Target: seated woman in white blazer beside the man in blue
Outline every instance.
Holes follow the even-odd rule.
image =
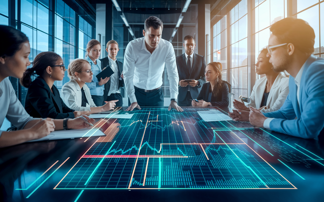
[[[266,48],[262,49],[258,56],[258,62],[255,64],[256,73],[259,75],[265,74],[266,76],[255,82],[247,106],[240,101],[233,101],[236,109],[250,111],[249,107],[251,106],[261,112],[273,112],[283,106],[289,93],[289,78],[273,71],[267,53]]]

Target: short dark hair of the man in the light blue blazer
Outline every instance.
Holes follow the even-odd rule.
[[[305,20],[287,17],[274,23],[270,31],[278,37],[280,43],[292,43],[305,54],[314,52],[314,29]]]

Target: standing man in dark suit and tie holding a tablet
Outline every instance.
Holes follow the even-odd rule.
[[[179,73],[179,94],[178,105],[191,107],[191,100],[196,99],[200,93],[201,87],[206,82],[205,57],[195,54],[195,39],[187,35],[183,39],[185,53],[176,57]],[[184,82],[186,79],[192,79],[191,82]]]

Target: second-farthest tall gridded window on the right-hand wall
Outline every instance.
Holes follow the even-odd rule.
[[[230,80],[234,98],[248,95],[248,23],[247,1],[242,0],[230,12]]]

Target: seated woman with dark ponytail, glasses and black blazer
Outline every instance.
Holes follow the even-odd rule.
[[[75,118],[89,112],[75,111],[65,105],[54,81],[64,78],[65,66],[61,56],[47,51],[38,54],[33,67],[25,71],[20,84],[28,88],[25,109],[34,118]],[[39,75],[31,81],[32,75]]]

